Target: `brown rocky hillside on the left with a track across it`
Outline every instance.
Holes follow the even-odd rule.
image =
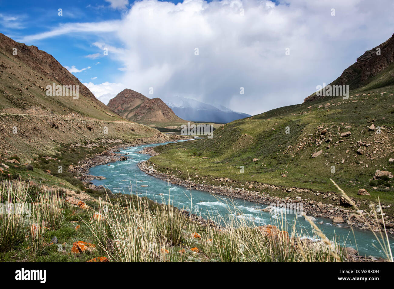
[[[78,85],[78,98],[48,96],[46,87],[53,83]],[[168,139],[117,115],[52,55],[1,33],[0,134],[0,156],[18,154],[26,162],[62,144]]]

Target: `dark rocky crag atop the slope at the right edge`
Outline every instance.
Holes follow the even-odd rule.
[[[349,85],[349,88],[374,89],[394,85],[394,34],[382,44],[366,51],[357,61],[330,85]],[[332,97],[316,96],[316,93],[305,98],[305,101]]]

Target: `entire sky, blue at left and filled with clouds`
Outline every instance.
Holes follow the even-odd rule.
[[[52,54],[105,104],[130,88],[257,114],[301,103],[390,38],[392,11],[392,0],[3,0],[0,32]]]

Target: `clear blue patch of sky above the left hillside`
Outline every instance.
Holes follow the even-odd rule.
[[[62,9],[59,16],[58,9]],[[100,40],[97,35],[67,33],[55,37],[24,41],[24,37],[50,31],[67,23],[102,22],[119,20],[124,9],[113,9],[110,2],[100,1],[70,1],[70,0],[22,0],[1,1],[0,23],[1,32],[14,40],[25,42],[26,45],[35,45],[53,55],[63,66],[76,66],[78,70],[91,67],[82,72],[74,73],[81,81],[102,83],[112,81],[122,72],[116,66],[122,63],[113,63],[104,57],[102,50],[92,46]],[[4,17],[17,18],[6,21]],[[118,43],[116,43],[118,44]],[[121,44],[120,44],[121,45]],[[100,53],[100,57],[88,58],[87,55]],[[109,73],[111,77],[109,77]],[[97,78],[95,78],[97,77]]]

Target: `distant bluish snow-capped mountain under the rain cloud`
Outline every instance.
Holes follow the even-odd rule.
[[[162,98],[162,100],[175,112],[177,116],[184,120],[227,123],[250,116],[246,113],[231,110],[221,104],[209,105],[207,103],[182,96],[166,97]]]

